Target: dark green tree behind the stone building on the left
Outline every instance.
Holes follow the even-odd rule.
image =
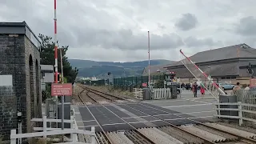
[[[54,42],[52,38],[43,34],[39,34],[38,36],[41,39],[41,64],[42,65],[54,65]],[[68,62],[68,58],[66,57],[66,51],[69,46],[58,46],[62,49],[58,50],[58,72],[61,72],[61,61],[60,61],[60,50],[62,50],[62,65],[63,65],[63,74],[66,78],[66,82],[74,83],[75,78],[78,75],[78,69],[75,67],[72,69],[70,66],[70,62]],[[64,80],[65,80],[64,78]]]

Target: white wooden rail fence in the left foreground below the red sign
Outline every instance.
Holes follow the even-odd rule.
[[[66,123],[70,123],[70,129],[61,128],[48,128],[47,122],[62,122],[61,119],[50,119],[44,116],[43,118],[33,118],[31,121],[33,122],[43,122],[43,127],[34,127],[35,131],[42,131],[42,132],[35,132],[35,133],[26,133],[26,134],[16,134],[16,130],[10,131],[10,144],[16,144],[16,139],[18,138],[34,138],[34,137],[43,137],[47,138],[48,135],[59,135],[59,134],[70,134],[70,143],[82,143],[77,142],[78,137],[77,134],[86,134],[91,136],[91,144],[96,143],[95,139],[95,128],[91,127],[91,131],[89,130],[76,130],[77,126],[75,126],[74,120],[64,120]],[[68,143],[68,142],[66,142]]]

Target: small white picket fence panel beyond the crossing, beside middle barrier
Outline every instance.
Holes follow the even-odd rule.
[[[154,88],[153,93],[153,99],[171,98],[170,88]]]

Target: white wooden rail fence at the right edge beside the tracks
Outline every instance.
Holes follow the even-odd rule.
[[[256,122],[256,117],[252,117],[252,118],[248,118],[246,117],[245,113],[249,113],[249,114],[256,114],[256,111],[253,110],[256,108],[256,105],[254,104],[246,104],[246,103],[242,103],[242,102],[237,102],[237,103],[215,103],[215,105],[217,106],[217,108],[215,108],[215,110],[217,110],[217,114],[215,114],[214,116],[218,117],[218,118],[235,118],[235,119],[239,119],[239,126],[242,125],[243,120],[249,121],[249,122]],[[220,108],[221,106],[237,106],[238,108]],[[248,110],[246,110],[246,108]],[[234,116],[234,115],[223,115],[221,114],[221,111],[237,111],[238,112],[238,116]]]

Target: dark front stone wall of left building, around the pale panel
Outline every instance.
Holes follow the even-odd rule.
[[[10,130],[18,127],[17,111],[26,115],[26,71],[25,71],[24,36],[10,38],[8,34],[0,34],[0,70],[1,74],[12,74],[12,93],[3,90],[0,95],[0,134],[4,139],[10,138]],[[6,91],[6,92],[4,92]],[[23,130],[26,129],[26,116],[23,117]]]

